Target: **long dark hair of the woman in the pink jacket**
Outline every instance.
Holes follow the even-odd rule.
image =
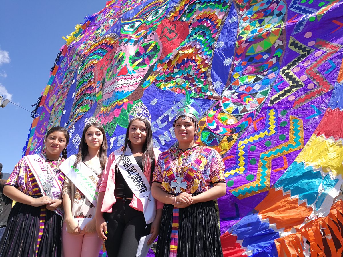
[[[152,174],[153,171],[155,170],[154,142],[152,140],[152,129],[151,129],[150,122],[145,120],[145,119],[135,118],[129,122],[128,128],[126,130],[124,150],[123,150],[122,155],[120,156],[118,164],[121,162],[121,159],[125,155],[128,144],[131,145],[131,142],[129,140],[129,130],[130,130],[130,126],[131,126],[132,122],[135,120],[143,121],[145,124],[145,127],[146,127],[146,140],[145,140],[145,143],[144,143],[143,149],[142,149],[143,150],[142,166],[143,166],[143,172],[145,172],[145,167],[147,166],[147,164],[150,164],[151,165],[151,174]],[[149,179],[149,182],[151,183],[151,178]]]

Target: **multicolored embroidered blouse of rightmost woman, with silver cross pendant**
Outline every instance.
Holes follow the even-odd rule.
[[[159,155],[153,182],[162,183],[162,189],[169,194],[201,193],[214,183],[225,182],[224,169],[222,157],[210,147],[182,151],[173,146]]]

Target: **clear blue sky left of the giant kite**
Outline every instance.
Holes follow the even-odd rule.
[[[44,90],[50,68],[65,40],[86,15],[106,1],[2,1],[0,15],[0,95],[27,110]],[[9,103],[0,108],[0,162],[11,173],[22,156],[31,113]]]

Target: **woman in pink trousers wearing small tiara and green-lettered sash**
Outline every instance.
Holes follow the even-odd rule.
[[[103,242],[95,229],[95,209],[107,148],[102,124],[91,117],[83,129],[78,155],[72,155],[60,167],[66,174],[63,185],[64,257],[99,255]]]

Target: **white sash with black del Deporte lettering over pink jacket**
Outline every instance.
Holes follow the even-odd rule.
[[[117,164],[121,154],[121,149],[115,151]],[[156,216],[155,199],[152,197],[149,181],[138,166],[129,146],[126,149],[125,155],[121,159],[118,168],[133,194],[141,200],[145,222],[146,224],[150,224],[154,221]]]

